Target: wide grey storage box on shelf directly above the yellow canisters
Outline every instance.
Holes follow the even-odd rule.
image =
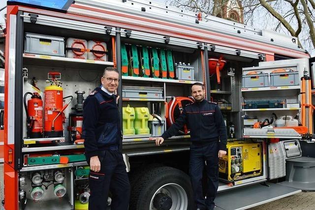
[[[125,98],[164,99],[163,88],[123,86],[122,89]]]

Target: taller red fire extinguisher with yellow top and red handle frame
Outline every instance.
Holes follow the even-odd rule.
[[[45,127],[44,137],[63,137],[63,111],[72,101],[73,96],[63,98],[63,88],[61,87],[61,73],[49,72],[48,79],[51,83],[50,86],[45,88]],[[71,97],[70,101],[63,106],[63,99]]]

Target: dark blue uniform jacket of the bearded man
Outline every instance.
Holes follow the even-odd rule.
[[[162,134],[163,139],[177,134],[185,123],[189,125],[192,144],[220,141],[219,150],[226,150],[226,126],[217,103],[203,100],[187,105],[176,122]]]

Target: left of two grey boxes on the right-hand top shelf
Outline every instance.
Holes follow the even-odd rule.
[[[268,86],[268,73],[242,75],[243,88],[261,88]]]

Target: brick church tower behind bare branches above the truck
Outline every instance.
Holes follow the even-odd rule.
[[[244,24],[244,11],[240,0],[214,0],[212,15]]]

